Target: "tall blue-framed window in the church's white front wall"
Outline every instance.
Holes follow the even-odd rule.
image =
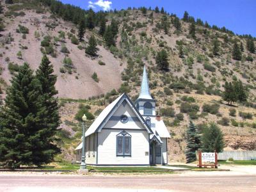
[[[131,135],[126,131],[116,135],[116,156],[131,156]]]

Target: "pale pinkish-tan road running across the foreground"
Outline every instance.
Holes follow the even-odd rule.
[[[100,189],[107,188],[107,189]],[[123,190],[126,188],[126,190]],[[0,191],[256,191],[255,175],[26,176],[0,175]]]

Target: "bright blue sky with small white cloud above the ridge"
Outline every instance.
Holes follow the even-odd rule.
[[[163,6],[168,13],[182,17],[184,11],[189,15],[218,27],[225,26],[239,35],[256,36],[256,0],[61,0],[83,9],[121,10],[127,7]]]

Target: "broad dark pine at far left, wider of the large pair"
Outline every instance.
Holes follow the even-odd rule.
[[[40,83],[28,63],[24,63],[12,77],[0,113],[0,161],[6,166],[17,168],[21,164],[33,164],[33,145],[38,140],[38,97]]]

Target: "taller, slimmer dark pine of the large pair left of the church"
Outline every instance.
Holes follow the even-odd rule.
[[[58,93],[55,88],[57,76],[53,72],[51,61],[44,55],[35,76],[41,86],[38,97],[38,123],[32,145],[32,161],[36,165],[50,163],[54,156],[60,153],[60,148],[56,145],[56,133],[60,125],[58,100],[55,97]]]

